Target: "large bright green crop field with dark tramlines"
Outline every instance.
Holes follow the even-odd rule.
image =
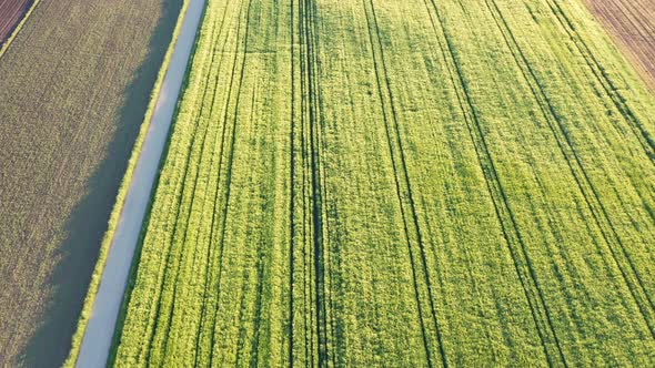
[[[208,0],[114,366],[653,366],[655,98],[581,0]]]

